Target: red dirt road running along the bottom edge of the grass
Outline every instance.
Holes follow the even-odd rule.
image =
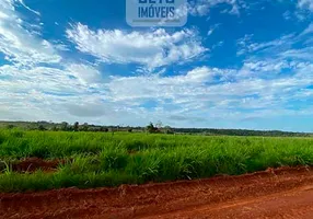
[[[0,194],[0,218],[313,218],[313,169]]]

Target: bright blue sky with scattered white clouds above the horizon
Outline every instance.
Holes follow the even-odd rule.
[[[313,131],[313,0],[188,1],[131,27],[125,0],[1,0],[0,119]]]

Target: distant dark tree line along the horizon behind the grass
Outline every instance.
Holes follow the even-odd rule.
[[[149,123],[146,127],[131,126],[101,126],[88,123],[76,122],[0,122],[0,127],[8,129],[23,128],[25,130],[50,130],[50,131],[128,131],[149,134],[184,134],[184,135],[206,135],[206,136],[265,136],[265,137],[313,137],[309,132],[292,132],[281,130],[247,130],[247,129],[217,129],[217,128],[175,128],[164,126],[161,122]]]

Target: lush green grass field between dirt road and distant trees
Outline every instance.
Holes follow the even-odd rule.
[[[65,162],[50,172],[12,171],[34,157]],[[0,192],[88,188],[312,165],[313,138],[0,129]]]

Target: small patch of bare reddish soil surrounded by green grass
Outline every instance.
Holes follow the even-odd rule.
[[[12,171],[15,172],[35,172],[42,170],[45,172],[55,171],[63,160],[42,160],[38,158],[27,158],[12,164]]]

